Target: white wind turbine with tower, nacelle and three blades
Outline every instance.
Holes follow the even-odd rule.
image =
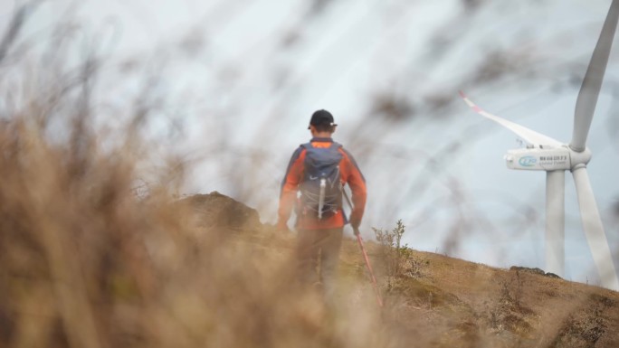
[[[619,290],[619,279],[614,268],[611,250],[606,240],[604,226],[595,203],[595,197],[586,172],[591,159],[591,151],[586,147],[586,137],[593,119],[595,104],[602,87],[602,80],[614,32],[619,18],[619,0],[613,0],[602,33],[585,79],[576,99],[574,132],[569,144],[563,144],[527,127],[519,126],[506,119],[494,116],[460,92],[462,99],[477,113],[507,127],[525,142],[526,148],[509,150],[505,161],[509,169],[537,170],[546,172],[546,267],[549,272],[560,277],[565,268],[565,172],[572,172],[576,184],[576,194],[586,240],[593,254],[595,267],[600,275],[602,286]]]

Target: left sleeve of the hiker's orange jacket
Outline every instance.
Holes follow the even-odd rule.
[[[281,182],[280,206],[277,212],[278,223],[286,223],[290,219],[290,213],[297,200],[297,192],[303,174],[304,158],[305,151],[302,147],[299,147],[290,158],[286,174]]]

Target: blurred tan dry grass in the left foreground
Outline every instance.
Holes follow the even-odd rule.
[[[145,141],[129,127],[102,151],[88,115],[68,116],[66,142],[25,114],[0,134],[0,346],[392,345],[358,285],[331,312],[296,287],[290,238],[255,211],[176,201],[176,161],[138,197]]]

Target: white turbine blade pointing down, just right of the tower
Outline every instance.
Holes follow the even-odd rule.
[[[619,290],[619,279],[617,279],[617,273],[614,269],[613,256],[608,246],[608,240],[606,240],[600,212],[597,211],[597,204],[595,203],[593,189],[589,182],[589,174],[586,173],[586,166],[576,167],[572,174],[576,184],[580,218],[583,221],[586,241],[589,243],[589,249],[591,249],[595,267],[602,280],[602,286],[617,291]]]

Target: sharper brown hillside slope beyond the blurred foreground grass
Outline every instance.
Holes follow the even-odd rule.
[[[218,193],[188,200],[207,216],[218,211],[229,220],[229,212],[238,212],[238,223],[244,223],[251,215],[254,225],[240,240],[291,256],[293,236],[256,224],[257,217],[243,204]],[[222,211],[223,206],[230,211]],[[538,268],[491,268],[412,249],[399,259],[402,270],[387,275],[381,250],[386,246],[366,245],[386,301],[380,328],[375,329],[393,334],[404,346],[619,346],[619,294],[614,291],[545,275]],[[356,240],[345,240],[340,270],[343,287],[355,283],[371,292]],[[345,291],[341,296],[353,301]],[[365,300],[376,304],[371,294]]]

